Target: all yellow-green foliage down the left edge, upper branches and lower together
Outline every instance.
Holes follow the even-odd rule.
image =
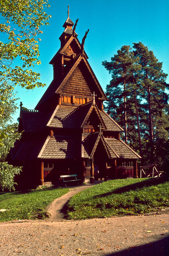
[[[39,35],[41,26],[49,25],[51,17],[45,13],[48,0],[3,0],[0,4],[0,189],[14,189],[14,177],[21,167],[9,165],[6,161],[10,148],[21,134],[16,132],[17,124],[12,124],[16,98],[14,87],[33,89],[44,86],[39,82],[40,74],[32,70],[40,64]],[[1,39],[2,40],[2,39]],[[16,66],[16,63],[19,65]]]

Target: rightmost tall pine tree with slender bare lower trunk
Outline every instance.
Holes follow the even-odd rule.
[[[140,70],[140,87],[142,90],[142,97],[146,100],[144,109],[148,112],[148,128],[150,140],[150,159],[154,161],[155,153],[155,127],[156,120],[159,113],[162,113],[164,104],[167,104],[168,96],[164,92],[167,88],[165,82],[167,74],[162,71],[162,62],[158,62],[148,47],[141,42],[134,43],[134,56],[139,58],[141,64]],[[165,100],[165,103],[164,103]],[[164,104],[163,104],[164,103]],[[153,118],[154,116],[154,118]],[[153,120],[155,121],[153,123]]]

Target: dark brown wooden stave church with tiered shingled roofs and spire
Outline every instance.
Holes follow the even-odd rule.
[[[77,20],[78,21],[78,20]],[[107,100],[68,18],[59,37],[61,47],[49,64],[54,79],[35,110],[20,110],[16,141],[10,162],[23,166],[17,182],[28,187],[57,184],[60,175],[77,174],[94,179],[94,163],[100,177],[138,178],[141,158],[120,140],[123,128],[103,109]],[[74,27],[73,27],[74,25]]]

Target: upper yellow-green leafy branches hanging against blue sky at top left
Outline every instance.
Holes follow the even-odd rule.
[[[40,64],[40,28],[49,25],[51,17],[44,12],[45,7],[49,8],[47,0],[3,0],[0,5],[0,32],[6,41],[0,42],[0,76],[26,89],[44,86],[38,81],[40,74],[31,67]],[[20,66],[13,65],[16,58]]]

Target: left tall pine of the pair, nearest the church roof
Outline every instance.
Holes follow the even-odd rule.
[[[128,117],[134,116],[133,111],[136,113],[139,151],[141,155],[142,154],[141,153],[141,136],[140,136],[140,125],[139,125],[139,118],[138,118],[138,99],[137,99],[137,95],[138,95],[137,80],[139,79],[139,76],[137,74],[141,66],[138,64],[138,57],[134,57],[134,53],[131,52],[130,46],[124,45],[121,47],[120,50],[117,51],[117,54],[115,54],[114,57],[111,58],[111,62],[107,62],[105,60],[104,62],[102,62],[102,64],[109,71],[109,73],[112,74],[112,80],[110,81],[110,84],[107,85],[106,87],[106,92],[109,99],[109,102],[107,103],[107,110],[108,112],[110,112],[113,104],[114,104],[114,109],[116,109],[115,110],[116,112],[118,110],[119,110],[118,112],[123,110],[124,134],[125,134],[126,143],[128,142],[127,133],[128,135],[130,135],[129,130],[133,126],[133,120],[131,120],[131,118],[127,118],[127,116]],[[132,95],[134,95],[134,97],[132,97]],[[123,99],[123,103],[122,103],[122,99]],[[133,110],[133,108],[135,108],[135,110]],[[116,118],[117,118],[117,114],[118,114],[118,117],[121,116],[120,113],[116,113]],[[127,131],[127,124],[128,124],[128,131]],[[135,130],[134,126],[132,130]],[[129,141],[131,144],[130,139]]]

